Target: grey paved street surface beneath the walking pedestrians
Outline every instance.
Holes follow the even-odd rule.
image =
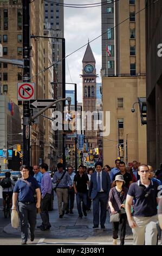
[[[2,202],[0,202],[2,205]],[[78,218],[76,202],[74,214],[64,215],[59,218],[57,210],[57,198],[54,196],[54,210],[49,212],[51,229],[41,231],[35,229],[34,242],[28,241],[29,245],[111,245],[112,244],[112,224],[109,223],[109,217],[105,223],[106,230],[93,229],[93,214],[87,212],[87,217],[82,220]],[[37,225],[41,224],[41,217],[37,215]],[[2,207],[0,206],[0,245],[20,245],[21,232],[20,227],[14,229],[11,227],[10,219],[4,219]],[[132,244],[132,232],[127,227],[126,245]],[[120,241],[119,241],[120,242]]]

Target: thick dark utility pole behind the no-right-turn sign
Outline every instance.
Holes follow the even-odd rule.
[[[30,29],[29,0],[22,1],[23,6],[23,82],[30,81]],[[26,126],[30,117],[29,101],[23,102],[23,164],[30,166],[30,125],[29,136],[26,137]]]

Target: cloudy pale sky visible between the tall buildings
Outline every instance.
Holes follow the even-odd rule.
[[[64,0],[67,4],[89,4],[96,0]],[[101,35],[101,7],[68,8],[64,7],[64,38],[66,40],[66,56]],[[101,82],[101,37],[90,43],[96,60],[97,82]],[[82,102],[82,59],[87,46],[66,58],[66,82],[77,84],[77,101]],[[68,71],[69,68],[69,71]],[[70,78],[71,77],[71,78]],[[74,89],[66,86],[66,89]]]

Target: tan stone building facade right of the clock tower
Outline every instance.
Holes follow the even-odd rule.
[[[144,7],[145,1],[108,1],[101,10],[102,33],[106,32],[102,36],[102,108],[110,112],[103,162],[109,166],[118,156],[126,162],[147,163],[146,126],[141,126],[138,105],[131,112],[138,97],[146,96],[145,13],[138,13]]]

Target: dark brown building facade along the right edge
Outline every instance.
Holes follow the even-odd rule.
[[[162,162],[162,2],[146,4],[147,163]]]

